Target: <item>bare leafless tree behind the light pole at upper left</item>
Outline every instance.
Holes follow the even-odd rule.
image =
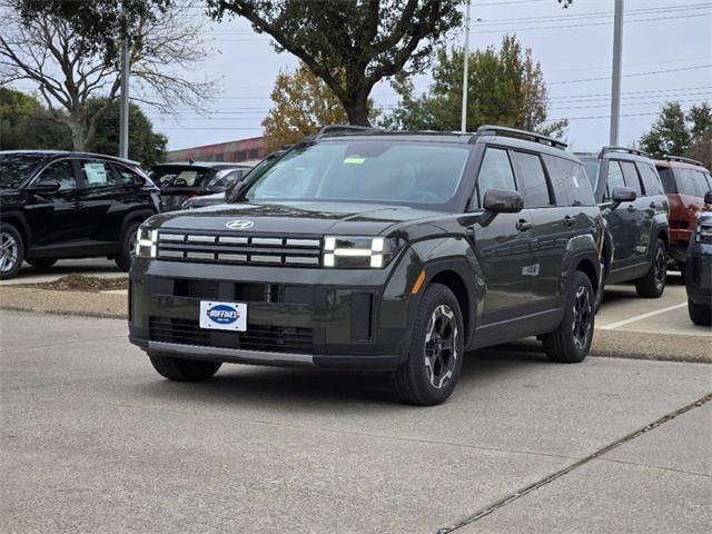
[[[191,17],[190,8],[189,2],[182,2],[159,17],[132,21],[134,100],[167,112],[177,105],[200,109],[215,93],[212,81],[186,76],[207,56],[201,26]],[[61,17],[46,13],[23,19],[7,1],[0,6],[0,14],[6,21],[0,34],[0,86],[30,81],[55,119],[69,127],[75,149],[85,150],[99,118],[118,97],[118,56],[92,48]],[[96,97],[106,97],[106,103],[88,106]]]

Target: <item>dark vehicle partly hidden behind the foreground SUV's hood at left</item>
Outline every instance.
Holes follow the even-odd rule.
[[[181,209],[186,200],[225,192],[253,167],[243,164],[194,162],[161,164],[148,176],[160,188],[161,211]]]

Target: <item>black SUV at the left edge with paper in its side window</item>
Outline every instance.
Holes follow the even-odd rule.
[[[138,226],[158,212],[158,188],[139,165],[60,151],[0,152],[0,278],[22,260],[107,256],[128,270]]]

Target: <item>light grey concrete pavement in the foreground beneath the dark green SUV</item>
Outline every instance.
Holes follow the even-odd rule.
[[[712,522],[706,364],[481,352],[448,403],[414,408],[368,375],[225,366],[169,383],[122,320],[0,312],[0,333],[3,532]]]

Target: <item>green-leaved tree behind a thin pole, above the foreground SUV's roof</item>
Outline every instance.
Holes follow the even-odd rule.
[[[407,80],[394,83],[400,102],[384,126],[405,130],[458,130],[463,91],[464,52],[437,50],[433,82],[419,97]],[[547,122],[548,96],[544,75],[531,49],[522,49],[515,36],[505,36],[500,49],[469,52],[467,126],[474,130],[496,123],[561,136],[567,120]]]

